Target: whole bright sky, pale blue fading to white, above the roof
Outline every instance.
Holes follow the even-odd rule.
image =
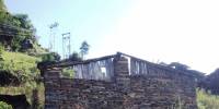
[[[87,58],[122,51],[151,62],[181,62],[210,73],[219,68],[218,0],[4,0],[11,13],[26,13],[48,48],[49,25],[71,33],[71,51],[87,40]]]

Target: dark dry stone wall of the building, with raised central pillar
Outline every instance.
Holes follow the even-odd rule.
[[[147,75],[130,75],[128,60],[114,59],[108,81],[62,78],[44,70],[46,109],[197,109],[193,76],[154,64]]]

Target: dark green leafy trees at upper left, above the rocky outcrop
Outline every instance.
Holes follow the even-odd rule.
[[[20,51],[24,39],[31,39],[35,43],[35,32],[27,14],[10,14],[3,0],[0,1],[0,26],[1,26],[1,43],[3,46],[9,46],[13,51]]]

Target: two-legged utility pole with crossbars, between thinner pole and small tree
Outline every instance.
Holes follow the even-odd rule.
[[[71,55],[71,34],[64,33],[62,34],[62,57],[64,59],[69,58]]]

